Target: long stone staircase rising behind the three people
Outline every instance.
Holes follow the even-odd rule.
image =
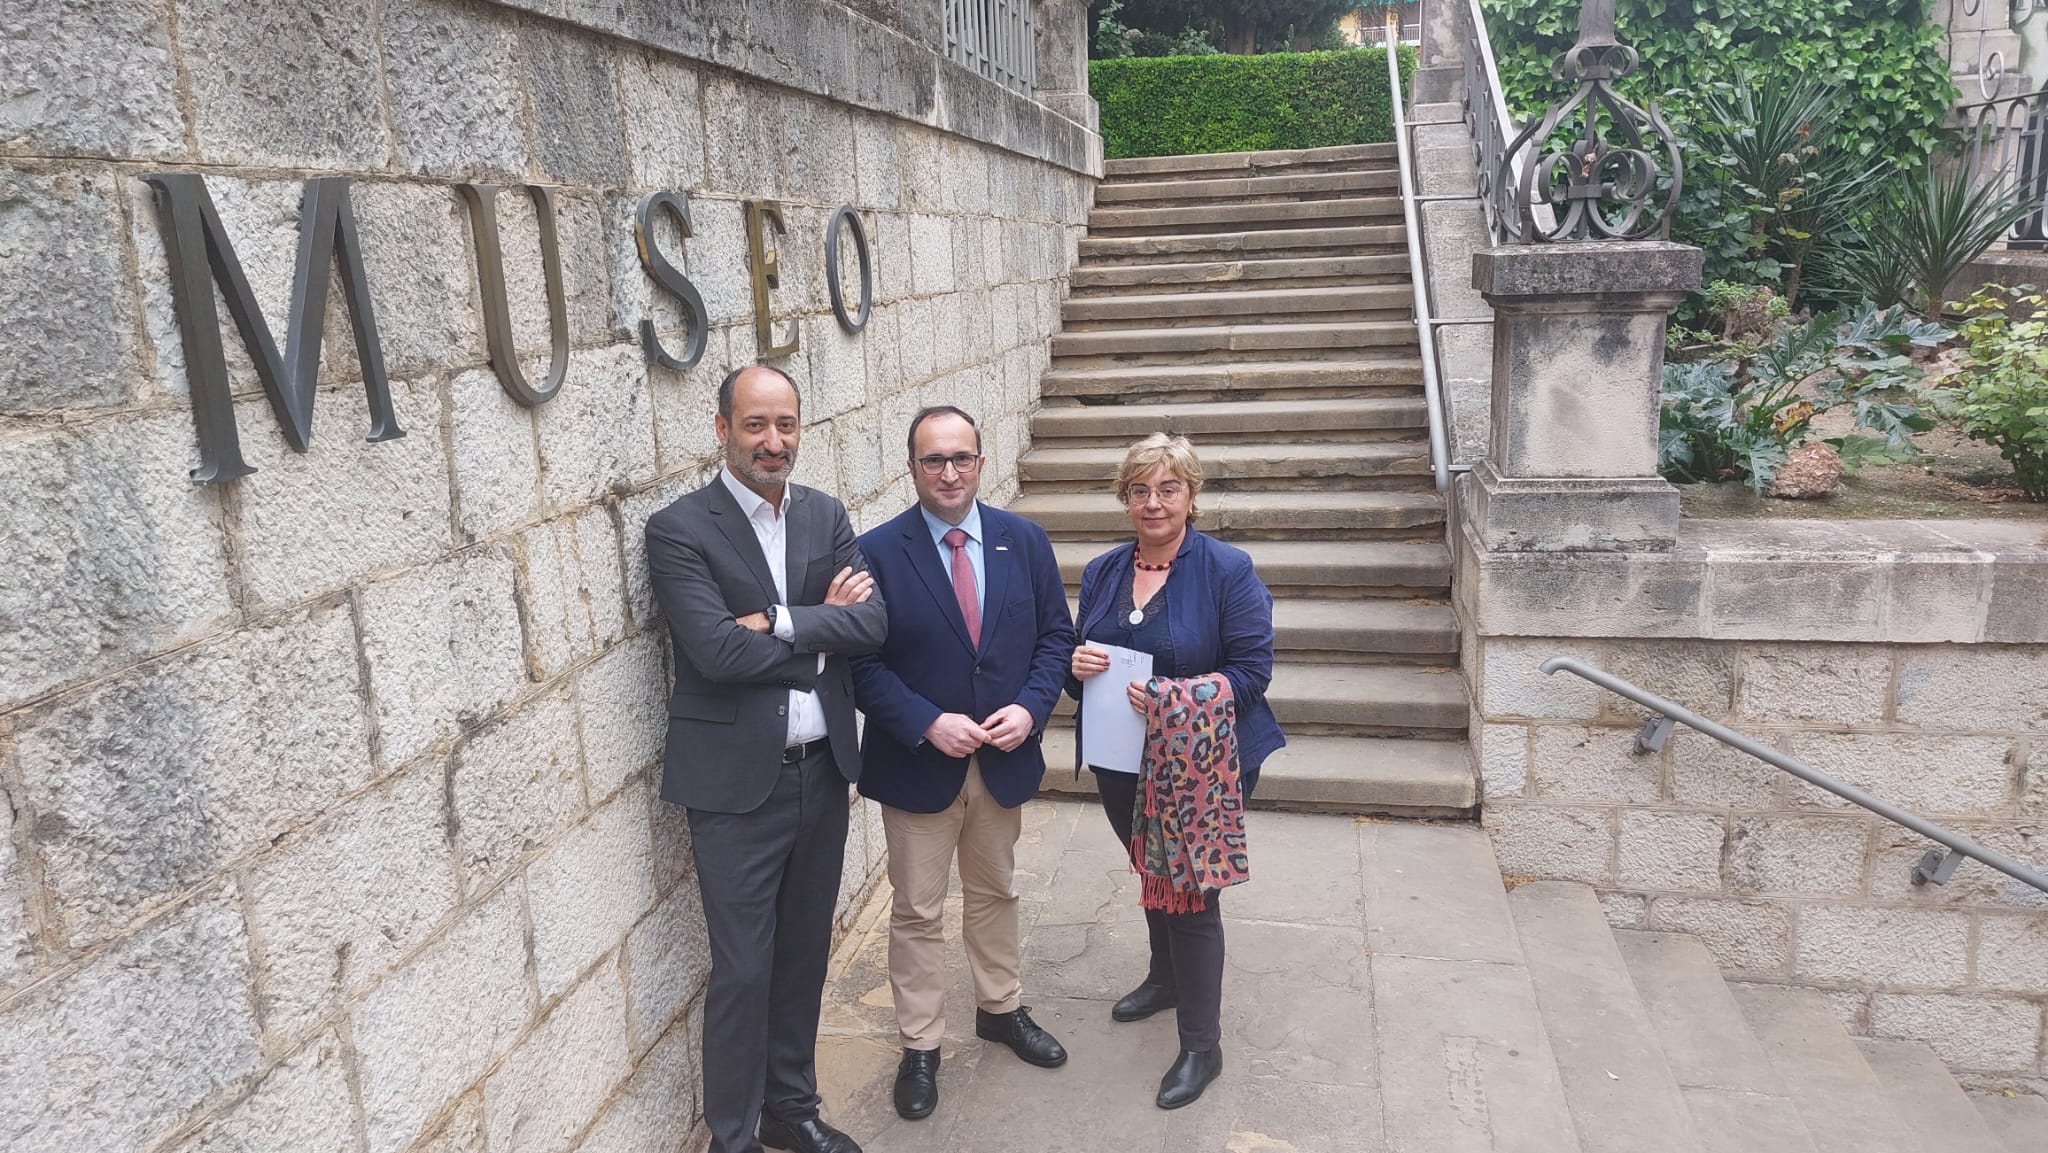
[[[1196,442],[1200,526],[1274,590],[1288,748],[1257,801],[1470,815],[1466,696],[1432,487],[1395,150],[1112,160],[1053,338],[1016,512],[1073,588],[1130,522],[1149,432]],[[1071,729],[1047,735],[1071,764]],[[1051,772],[1053,788],[1092,778]]]

